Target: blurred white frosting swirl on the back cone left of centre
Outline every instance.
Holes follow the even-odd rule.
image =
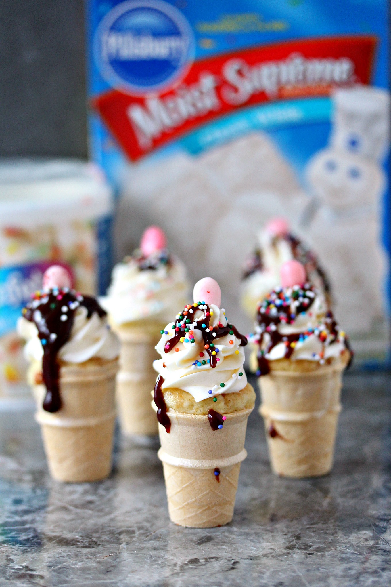
[[[171,264],[156,269],[140,269],[130,258],[113,269],[107,295],[101,306],[118,325],[153,318],[166,323],[186,302],[189,282],[185,265],[171,256]]]

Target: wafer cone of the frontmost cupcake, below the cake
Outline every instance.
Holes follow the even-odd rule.
[[[244,438],[252,409],[226,414],[223,428],[212,430],[208,416],[168,410],[171,431],[159,424],[169,516],[192,528],[222,526],[232,520]],[[219,468],[220,474],[215,475]]]

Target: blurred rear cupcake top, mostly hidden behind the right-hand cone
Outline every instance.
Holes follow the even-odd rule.
[[[280,269],[295,259],[305,267],[307,279],[331,302],[330,285],[318,259],[307,245],[290,232],[284,218],[273,218],[258,234],[259,245],[247,259],[242,282],[242,308],[254,319],[257,303],[281,285]]]

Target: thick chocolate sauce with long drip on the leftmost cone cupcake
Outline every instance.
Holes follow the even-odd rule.
[[[22,311],[26,320],[35,323],[38,329],[43,347],[42,379],[46,386],[43,409],[52,413],[62,405],[57,353],[70,338],[74,314],[79,306],[87,309],[87,318],[94,312],[100,317],[106,316],[95,298],[82,296],[67,288],[37,292]]]

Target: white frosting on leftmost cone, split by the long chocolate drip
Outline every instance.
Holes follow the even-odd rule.
[[[74,313],[69,340],[60,348],[59,359],[69,363],[84,363],[93,357],[112,360],[120,354],[120,340],[107,324],[106,316],[100,318],[94,312],[87,318],[87,308],[79,306]],[[29,362],[41,361],[43,346],[38,336],[38,329],[33,322],[19,318],[17,323],[19,336],[26,339],[24,354]]]

